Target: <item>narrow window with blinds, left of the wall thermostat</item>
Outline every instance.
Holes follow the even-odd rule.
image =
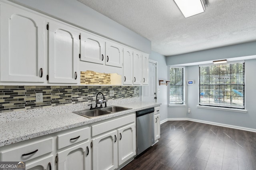
[[[170,67],[170,105],[184,103],[184,68]]]

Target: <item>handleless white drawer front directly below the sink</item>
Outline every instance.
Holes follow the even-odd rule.
[[[92,136],[99,135],[101,133],[110,131],[112,129],[116,129],[118,127],[127,125],[135,121],[136,121],[136,115],[134,113],[132,115],[128,115],[128,116],[120,117],[114,120],[92,125]]]

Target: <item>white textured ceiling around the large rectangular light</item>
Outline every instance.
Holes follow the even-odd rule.
[[[184,18],[173,0],[78,0],[177,55],[256,40],[256,0],[207,0],[204,13]]]

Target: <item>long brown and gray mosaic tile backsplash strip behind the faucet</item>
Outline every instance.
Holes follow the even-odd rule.
[[[114,96],[109,96],[110,90],[114,90]],[[140,86],[0,86],[0,113],[94,102],[98,92],[107,100],[137,98],[139,91]],[[36,102],[36,93],[40,92],[43,102]]]

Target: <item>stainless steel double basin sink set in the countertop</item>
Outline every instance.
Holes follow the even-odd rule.
[[[92,118],[92,117],[102,116],[110,113],[116,113],[119,111],[125,111],[129,109],[131,108],[120,107],[120,106],[108,106],[108,107],[103,107],[103,108],[93,109],[93,110],[86,109],[86,110],[80,110],[80,111],[73,111],[73,113],[76,113],[84,117]]]

